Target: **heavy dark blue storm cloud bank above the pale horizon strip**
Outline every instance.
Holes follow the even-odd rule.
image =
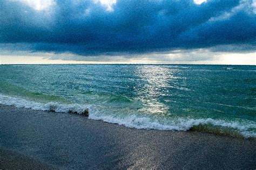
[[[256,49],[256,7],[250,0],[117,0],[111,9],[95,0],[52,2],[36,10],[2,0],[0,48],[78,55]]]

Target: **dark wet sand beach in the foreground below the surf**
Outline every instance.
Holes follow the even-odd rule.
[[[0,105],[0,168],[255,169],[256,141]]]

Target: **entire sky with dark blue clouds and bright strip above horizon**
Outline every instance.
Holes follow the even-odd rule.
[[[2,0],[1,63],[256,65],[256,0]]]

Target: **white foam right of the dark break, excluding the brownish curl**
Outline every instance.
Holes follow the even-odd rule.
[[[242,125],[238,122],[226,122],[223,120],[214,120],[212,118],[207,119],[185,119],[185,118],[177,118],[173,121],[169,120],[165,123],[160,123],[157,120],[152,120],[149,117],[138,117],[136,115],[127,116],[125,118],[115,117],[111,115],[98,115],[98,114],[90,114],[89,118],[102,120],[104,122],[109,123],[117,123],[119,125],[125,125],[129,128],[136,129],[156,129],[156,130],[173,130],[173,131],[187,131],[192,128],[192,126],[197,125],[205,125],[211,124],[214,126],[221,126],[224,128],[232,128],[237,130],[242,136],[248,137],[256,137],[255,132],[249,131],[251,128],[256,128],[256,124],[249,123],[246,125]]]

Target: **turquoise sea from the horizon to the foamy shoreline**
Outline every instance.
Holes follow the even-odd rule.
[[[1,65],[0,73],[0,104],[256,137],[256,66]]]

